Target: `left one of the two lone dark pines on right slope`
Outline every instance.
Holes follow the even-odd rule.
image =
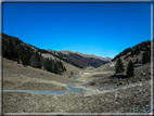
[[[123,64],[121,60],[118,59],[117,63],[115,65],[115,73],[118,74],[118,73],[124,73],[124,72],[125,72],[124,64]]]

